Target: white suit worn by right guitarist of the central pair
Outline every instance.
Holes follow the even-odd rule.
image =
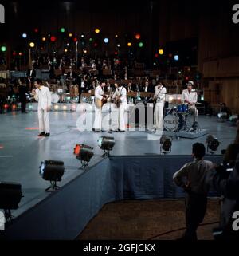
[[[118,112],[118,126],[120,131],[126,130],[126,110],[127,110],[127,91],[123,86],[120,86],[116,89],[113,99],[116,98],[116,96],[120,96],[120,106],[119,106],[119,112]]]

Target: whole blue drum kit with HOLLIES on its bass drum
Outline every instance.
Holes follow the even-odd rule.
[[[187,104],[178,104],[173,108],[166,108],[163,128],[167,132],[190,132],[192,127],[195,130],[194,124],[190,124],[188,116],[190,116],[190,109]]]

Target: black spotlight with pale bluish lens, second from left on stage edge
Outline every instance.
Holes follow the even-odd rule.
[[[40,165],[40,175],[42,179],[49,180],[51,185],[45,189],[46,192],[57,190],[57,182],[61,181],[64,175],[65,167],[64,162],[55,160],[45,160]]]

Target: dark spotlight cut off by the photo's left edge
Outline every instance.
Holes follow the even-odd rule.
[[[6,221],[13,219],[11,210],[18,209],[22,199],[20,183],[0,182],[0,209],[3,209]]]

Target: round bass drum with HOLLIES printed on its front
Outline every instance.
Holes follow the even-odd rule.
[[[182,130],[184,124],[184,117],[177,112],[170,112],[163,119],[163,127],[168,132],[178,132]]]

